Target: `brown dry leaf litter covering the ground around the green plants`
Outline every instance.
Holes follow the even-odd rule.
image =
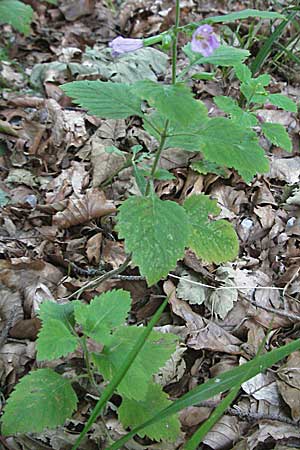
[[[35,34],[27,38],[17,35],[15,48],[10,49],[12,58],[23,61],[22,67],[0,62],[4,87],[0,98],[0,383],[5,396],[36,364],[41,302],[67,302],[87,281],[124,262],[123,243],[114,233],[114,213],[124,194],[135,187],[132,170],[122,168],[131,146],[152,148],[153,140],[138,121],[102,121],[88,116],[73,107],[59,88],[75,79],[126,82],[139,79],[141,72],[150,80],[164,75],[167,58],[159,50],[143,49],[139,60],[132,53],[116,62],[107,44],[117,27],[138,38],[168,28],[174,20],[173,2],[127,0],[121,8],[116,4],[117,14],[99,1],[83,0],[76,8],[72,1],[59,7],[39,3]],[[182,7],[183,23],[195,14],[202,18],[224,13],[227,8],[219,1],[205,5],[184,1]],[[228,9],[239,7],[231,4]],[[47,28],[49,18],[51,28]],[[245,22],[243,26],[249,27]],[[226,32],[232,33],[227,28]],[[4,27],[1,42],[9,34],[9,27]],[[194,83],[195,93],[216,115],[211,97],[224,95],[227,88],[214,81]],[[274,79],[273,89],[286,89],[299,101],[297,85]],[[156,375],[173,398],[249,360],[264,338],[271,349],[297,335],[299,122],[295,115],[276,109],[259,114],[267,122],[287,126],[294,144],[294,152],[287,156],[270,142],[262,142],[270,159],[268,174],[245,184],[234,173],[198,173],[189,167],[197,161],[193,154],[168,149],[162,167],[171,169],[174,179],[156,184],[162,199],[184,201],[191,193],[216,199],[221,208],[218,219],[226,218],[236,227],[240,258],[215,266],[186,251],[163,287],[148,288],[141,279],[110,279],[85,289],[81,296],[90,302],[114,287],[128,290],[133,296],[129,323],[144,324],[161,296],[176,288],[157,327],[177,334],[182,342]],[[107,152],[111,146],[120,153]],[[138,272],[130,267],[126,275]],[[268,289],[270,286],[273,288]],[[73,353],[51,364],[54,368],[65,364],[75,374],[82,354]],[[299,353],[295,353],[275,370],[244,383],[241,395],[206,435],[206,447],[256,450],[273,445],[281,449],[299,442],[295,426],[300,417],[299,367]],[[91,386],[81,381],[78,389],[83,392],[79,411],[65,427],[55,433],[13,436],[7,445],[64,449],[73,444],[74,431],[81,429],[94,401],[89,397]],[[220,397],[181,412],[183,434],[175,447],[140,438],[128,448],[180,448],[183,435],[190,436],[219,401]],[[94,449],[99,442],[105,448],[107,429],[115,439],[124,433],[113,403],[103,420],[105,425],[100,421],[94,424],[82,448]]]

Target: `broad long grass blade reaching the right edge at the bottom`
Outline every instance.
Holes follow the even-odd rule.
[[[255,377],[255,375],[257,375],[258,373],[263,372],[268,367],[271,367],[273,364],[285,358],[290,353],[299,349],[300,339],[297,339],[296,341],[290,342],[289,344],[286,344],[281,348],[277,348],[269,353],[266,353],[265,355],[259,356],[254,360],[243,364],[242,366],[236,367],[228,372],[220,374],[218,377],[208,380],[206,383],[202,384],[201,386],[197,386],[187,394],[183,395],[179,400],[176,400],[168,408],[165,408],[157,413],[152,417],[152,419],[144,422],[143,424],[130,431],[123,438],[119,439],[112,446],[110,446],[109,450],[118,450],[138,431],[142,430],[148,425],[159,422],[161,419],[175,414],[181,411],[183,408],[197,405],[205,400],[208,400],[214,395],[217,395],[221,392],[226,392],[237,385],[241,385],[250,378]]]

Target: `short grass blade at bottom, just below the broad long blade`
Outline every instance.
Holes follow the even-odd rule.
[[[209,430],[218,422],[218,420],[223,416],[226,409],[233,402],[240,390],[240,386],[236,386],[231,389],[229,394],[219,403],[215,410],[211,413],[209,418],[201,425],[200,428],[193,434],[191,439],[185,444],[183,450],[196,450],[198,445],[203,441],[204,436],[209,432]]]

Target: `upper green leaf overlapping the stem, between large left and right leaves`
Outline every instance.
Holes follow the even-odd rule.
[[[144,80],[135,83],[133,88],[137,95],[147,100],[165,119],[187,125],[206,116],[205,106],[194,99],[185,84],[170,85]]]

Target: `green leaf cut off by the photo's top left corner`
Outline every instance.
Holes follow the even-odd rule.
[[[30,33],[33,9],[18,0],[0,1],[0,23],[8,23],[25,35]]]

